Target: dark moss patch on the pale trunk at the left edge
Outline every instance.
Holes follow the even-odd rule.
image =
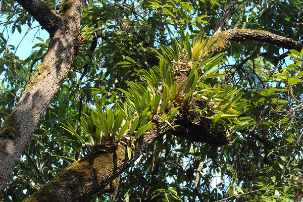
[[[15,113],[12,112],[0,129],[0,139],[17,139],[20,137],[20,124],[16,121]]]

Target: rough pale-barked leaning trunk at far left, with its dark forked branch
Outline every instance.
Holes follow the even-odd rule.
[[[49,102],[66,78],[77,49],[84,0],[63,1],[55,14],[38,0],[17,1],[51,34],[48,52],[0,129],[0,194]],[[39,14],[37,14],[39,13]]]

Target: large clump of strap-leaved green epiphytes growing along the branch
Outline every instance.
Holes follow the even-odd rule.
[[[239,102],[243,92],[226,84],[213,82],[225,76],[220,72],[223,54],[209,53],[212,45],[203,33],[190,38],[180,30],[180,39],[173,39],[172,47],[155,49],[160,59],[159,65],[147,70],[139,70],[139,81],[125,81],[129,87],[120,89],[123,98],[116,100],[111,109],[95,105],[90,116],[81,117],[79,135],[67,122],[63,128],[73,134],[72,138],[58,138],[57,141],[70,142],[77,153],[89,147],[89,151],[113,151],[121,142],[127,145],[131,159],[131,145],[157,122],[160,133],[174,130],[177,125],[171,121],[182,108],[195,114],[195,118],[212,120],[208,122],[213,130],[224,131],[229,137],[235,131],[248,127],[254,122],[249,117],[239,117],[248,105]],[[118,65],[125,65],[120,63]],[[195,103],[202,102],[197,108]],[[87,143],[88,142],[88,143]],[[231,143],[228,138],[227,144]],[[89,145],[89,146],[87,146]]]

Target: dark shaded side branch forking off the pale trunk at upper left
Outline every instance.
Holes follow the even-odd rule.
[[[61,18],[40,0],[16,0],[49,34],[58,29]]]

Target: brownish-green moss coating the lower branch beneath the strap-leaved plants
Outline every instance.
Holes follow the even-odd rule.
[[[78,196],[87,195],[91,189],[98,189],[102,182],[100,179],[106,177],[116,166],[125,161],[124,146],[119,146],[114,153],[93,154],[89,158],[80,160],[65,169],[60,176],[48,182],[37,190],[31,197],[24,201],[61,201],[60,189],[73,190]],[[87,183],[93,183],[86,186]],[[82,185],[82,186],[81,186]],[[104,184],[106,186],[107,184]]]

